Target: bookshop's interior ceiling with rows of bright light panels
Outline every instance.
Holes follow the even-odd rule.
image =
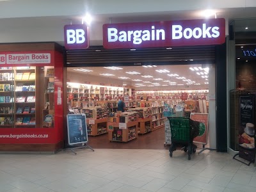
[[[156,67],[153,67],[156,66]],[[198,71],[191,70],[189,68],[197,67]],[[123,84],[135,86],[138,88],[143,87],[153,87],[155,86],[175,86],[175,90],[181,90],[184,86],[193,86],[196,90],[208,88],[208,74],[205,70],[200,68],[202,65],[150,65],[150,67],[143,66],[122,66],[118,67],[119,69],[112,70],[104,67],[69,67],[68,72],[76,72],[84,75],[90,74],[97,77],[108,77],[112,79],[115,83],[116,79],[122,80]],[[92,70],[90,72],[83,72],[81,70]],[[156,70],[167,70],[166,72],[157,72]],[[128,74],[127,72],[138,72],[140,74]],[[201,72],[203,74],[196,74],[196,72]],[[210,67],[211,72],[211,67]],[[113,76],[103,76],[100,74],[111,74]],[[168,76],[172,75],[172,76]],[[150,76],[150,77],[143,77]],[[207,76],[207,77],[202,77]],[[128,77],[128,79],[122,79],[120,77]],[[181,79],[182,78],[182,79]],[[138,81],[141,80],[141,81]],[[189,81],[191,80],[191,81]],[[150,82],[150,83],[149,83]],[[190,83],[189,83],[190,82]],[[193,83],[191,83],[193,82]],[[156,84],[159,83],[159,84]],[[177,87],[178,86],[178,87]]]

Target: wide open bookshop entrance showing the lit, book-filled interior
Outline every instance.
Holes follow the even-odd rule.
[[[180,113],[181,104],[185,116],[209,113],[216,129],[215,100],[209,95],[215,95],[214,65],[67,67],[68,108],[86,113],[93,148],[168,148],[164,104],[173,114]],[[125,119],[118,115],[120,99],[127,107]],[[115,126],[120,122],[127,123],[124,129]],[[208,145],[216,143],[214,137],[209,134]]]

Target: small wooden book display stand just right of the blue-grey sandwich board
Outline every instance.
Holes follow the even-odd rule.
[[[90,130],[87,129],[88,131],[88,136],[97,136],[100,134],[105,134],[107,133],[107,122],[108,118],[101,118],[101,119],[86,119],[86,124],[87,126],[90,126]],[[106,128],[106,131],[99,131],[99,125],[98,124],[104,124],[104,128]]]

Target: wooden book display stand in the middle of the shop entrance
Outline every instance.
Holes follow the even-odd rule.
[[[119,141],[119,142],[127,142],[127,141],[131,141],[134,140],[136,138],[138,138],[138,121],[135,122],[128,122],[128,123],[120,123],[120,124],[116,124],[116,123],[108,123],[108,127],[109,125],[113,126],[113,129],[109,130],[108,129],[108,138],[109,141]],[[121,127],[122,125],[122,127]],[[134,129],[132,129],[132,127],[134,127]],[[116,129],[118,128],[118,129]],[[118,134],[119,132],[122,132],[122,134],[120,134],[120,140],[118,139],[113,139],[113,135]],[[135,131],[135,132],[133,132]],[[132,134],[132,136],[131,136]],[[121,140],[121,136],[122,136],[122,140]]]

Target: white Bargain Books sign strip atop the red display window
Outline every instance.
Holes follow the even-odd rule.
[[[0,52],[0,65],[51,64],[51,52]]]

